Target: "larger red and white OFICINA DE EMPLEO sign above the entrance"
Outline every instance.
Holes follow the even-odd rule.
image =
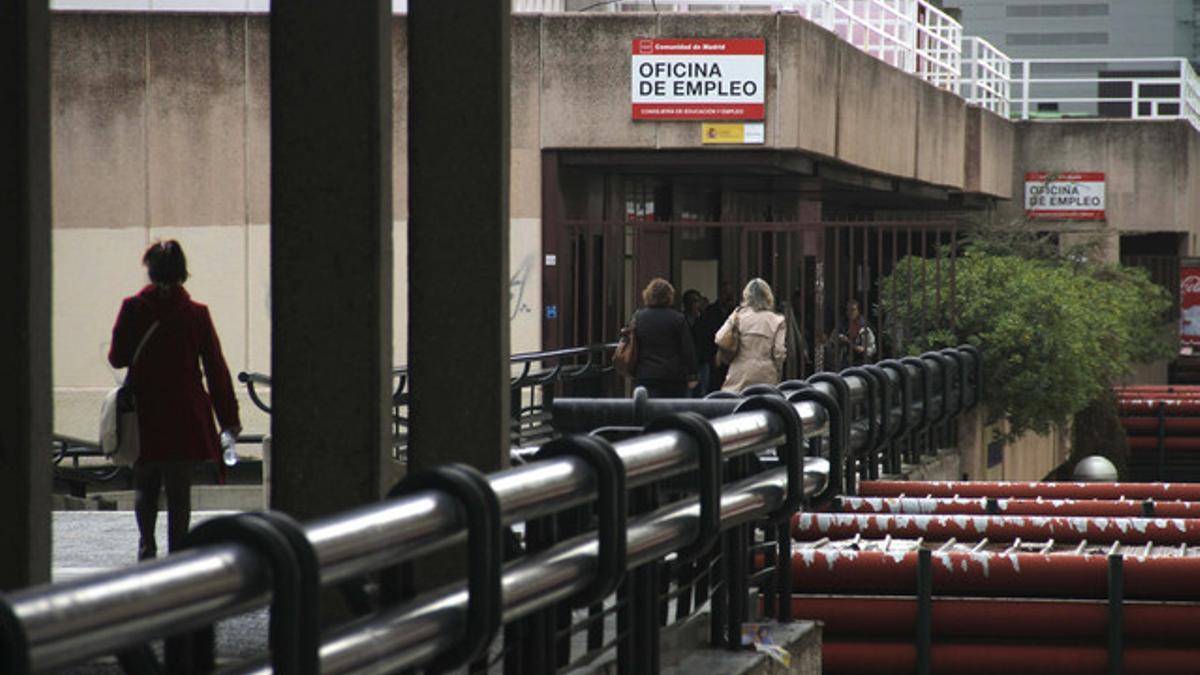
[[[635,120],[761,120],[767,43],[761,38],[637,38]]]

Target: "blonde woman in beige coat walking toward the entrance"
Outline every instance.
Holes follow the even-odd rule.
[[[742,289],[742,306],[730,315],[714,341],[724,354],[737,350],[725,377],[725,392],[751,384],[778,384],[787,359],[787,325],[775,313],[775,295],[761,279]]]

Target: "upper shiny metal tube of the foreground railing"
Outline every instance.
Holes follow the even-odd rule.
[[[811,405],[798,408],[810,419],[816,413]],[[725,456],[782,442],[782,422],[772,413],[739,413],[712,424]],[[698,454],[696,442],[679,431],[648,434],[614,447],[631,488],[695,468]],[[595,496],[590,468],[572,458],[527,464],[494,473],[490,482],[505,524]],[[823,486],[821,480],[814,484]],[[454,500],[425,491],[313,521],[305,533],[317,552],[322,584],[328,585],[460,543],[464,526]],[[19,591],[7,602],[24,626],[32,670],[41,671],[262,607],[266,589],[263,563],[246,548],[230,544]]]

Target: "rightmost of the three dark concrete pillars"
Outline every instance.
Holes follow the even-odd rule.
[[[409,464],[509,450],[510,4],[408,4]]]

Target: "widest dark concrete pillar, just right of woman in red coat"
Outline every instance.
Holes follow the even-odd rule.
[[[379,498],[391,447],[391,2],[271,4],[271,506]]]

